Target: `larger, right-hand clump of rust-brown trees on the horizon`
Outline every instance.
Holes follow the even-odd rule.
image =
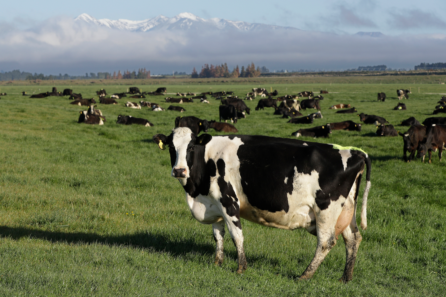
[[[265,67],[262,67],[265,68]],[[268,70],[268,69],[267,69]],[[251,65],[242,66],[242,69],[239,69],[239,65],[235,66],[234,69],[229,72],[227,67],[227,63],[222,65],[212,65],[205,64],[202,66],[200,73],[197,72],[197,69],[192,70],[191,77],[192,78],[209,78],[209,77],[258,77],[262,73],[262,69],[251,63]]]

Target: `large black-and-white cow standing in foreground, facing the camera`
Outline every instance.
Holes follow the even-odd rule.
[[[212,224],[215,264],[223,263],[225,225],[238,256],[237,273],[247,268],[240,218],[317,236],[313,260],[300,279],[311,278],[342,234],[346,264],[340,281],[352,279],[362,236],[355,212],[360,181],[366,171],[361,227],[367,228],[371,161],[363,150],[262,135],[202,134],[175,128],[156,134],[160,149],[169,146],[171,176],[186,193],[192,216]]]

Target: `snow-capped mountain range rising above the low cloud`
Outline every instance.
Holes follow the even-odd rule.
[[[167,30],[194,30],[194,29],[219,29],[227,30],[234,29],[238,31],[253,31],[253,30],[298,30],[293,27],[281,27],[275,25],[258,24],[258,23],[247,23],[243,21],[233,21],[225,20],[219,18],[202,19],[201,17],[195,16],[189,12],[182,12],[174,17],[167,16],[156,16],[152,19],[147,20],[109,20],[109,19],[96,19],[87,13],[83,13],[74,19],[75,21],[83,21],[88,24],[95,24],[98,26],[105,26],[113,29],[136,31],[136,32],[146,32],[157,29],[167,29]]]

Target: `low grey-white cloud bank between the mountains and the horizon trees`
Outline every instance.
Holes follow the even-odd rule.
[[[191,72],[204,63],[274,69],[340,70],[386,64],[413,68],[445,62],[446,35],[361,37],[317,31],[158,30],[128,32],[57,17],[33,29],[0,24],[0,70],[81,75],[133,70]],[[198,69],[199,71],[199,69]]]

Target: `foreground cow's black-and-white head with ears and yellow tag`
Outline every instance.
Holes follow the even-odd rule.
[[[201,134],[197,137],[186,127],[174,128],[169,136],[164,134],[153,136],[153,141],[158,144],[161,150],[165,149],[165,145],[169,146],[170,164],[172,165],[171,175],[177,178],[183,186],[190,178],[190,169],[194,164],[195,151],[204,151],[204,147],[211,139],[212,136],[209,134]]]

